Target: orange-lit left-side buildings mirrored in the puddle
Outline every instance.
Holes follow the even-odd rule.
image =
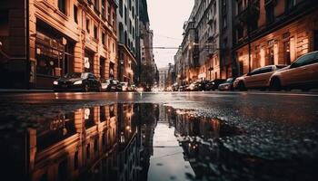
[[[157,109],[113,104],[1,129],[0,168],[13,180],[146,180]]]

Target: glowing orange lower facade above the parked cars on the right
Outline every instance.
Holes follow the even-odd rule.
[[[318,50],[317,29],[317,13],[313,13],[254,40],[250,55],[248,45],[243,46],[237,50],[241,75],[249,67],[253,70],[271,64],[288,65],[303,54]]]

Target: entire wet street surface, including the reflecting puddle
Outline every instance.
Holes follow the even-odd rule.
[[[1,94],[1,176],[316,180],[317,105],[291,93]]]

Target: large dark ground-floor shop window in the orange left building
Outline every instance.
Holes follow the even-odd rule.
[[[51,89],[52,83],[74,70],[74,42],[38,21],[35,33],[35,87]]]

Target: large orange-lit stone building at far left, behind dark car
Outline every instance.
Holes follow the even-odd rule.
[[[116,78],[114,0],[5,0],[0,5],[2,87],[51,89],[68,72]]]

